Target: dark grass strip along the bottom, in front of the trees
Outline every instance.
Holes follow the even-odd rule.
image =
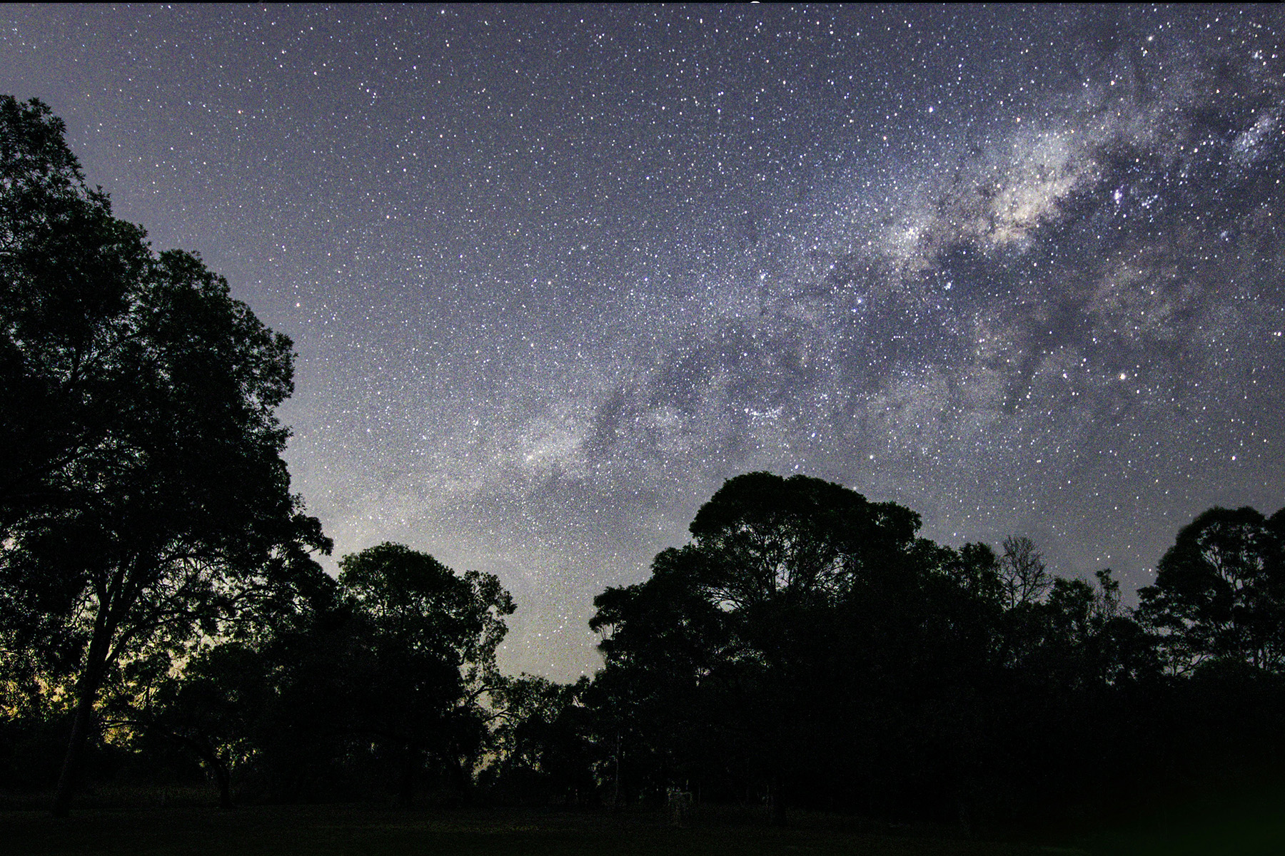
[[[0,811],[4,856],[1051,856],[1054,853],[1270,856],[1285,853],[1285,816],[1263,802],[1192,820],[1156,817],[1063,846],[970,841],[950,829],[798,814],[774,829],[757,812],[702,807],[682,829],[658,812],[520,809],[396,810],[370,805],[87,807],[54,820]]]

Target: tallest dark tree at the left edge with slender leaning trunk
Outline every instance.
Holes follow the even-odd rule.
[[[0,99],[0,590],[77,662],[66,814],[113,665],[289,597],[329,540],[281,459],[290,340],[114,219],[45,105]]]

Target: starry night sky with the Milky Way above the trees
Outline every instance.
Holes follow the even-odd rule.
[[[118,217],[298,349],[335,554],[500,576],[501,662],[732,475],[1151,581],[1285,504],[1277,6],[15,6]],[[328,562],[334,569],[334,562]]]

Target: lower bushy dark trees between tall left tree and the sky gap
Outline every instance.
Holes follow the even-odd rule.
[[[339,581],[299,610],[207,640],[179,670],[135,661],[113,688],[111,717],[136,732],[140,751],[172,746],[198,758],[222,805],[234,792],[362,791],[409,803],[434,774],[468,798],[496,744],[495,698],[509,687],[495,653],[511,598],[491,575],[455,574],[402,544],[339,567]]]

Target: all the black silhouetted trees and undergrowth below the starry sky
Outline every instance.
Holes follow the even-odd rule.
[[[8,852],[1028,852],[970,842],[1285,783],[1285,512],[1198,516],[1127,608],[1025,538],[944,547],[752,472],[596,598],[604,667],[559,685],[496,669],[493,576],[400,544],[321,572],[292,372],[199,258],[112,217],[48,108],[0,99],[0,791],[85,806],[5,814]],[[202,783],[240,809],[94,809]]]

